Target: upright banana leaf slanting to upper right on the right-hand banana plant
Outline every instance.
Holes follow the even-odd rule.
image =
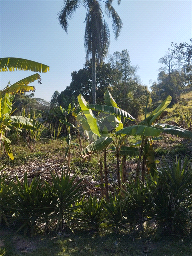
[[[151,125],[157,120],[161,113],[167,108],[167,106],[170,104],[172,97],[169,95],[167,98],[157,107],[153,112],[146,118],[145,122],[147,122],[148,125]]]

